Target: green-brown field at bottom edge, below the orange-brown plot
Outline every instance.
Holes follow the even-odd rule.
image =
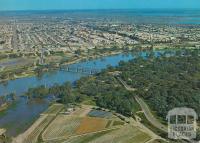
[[[73,138],[64,143],[145,143],[151,138],[135,127],[126,125],[95,134]]]

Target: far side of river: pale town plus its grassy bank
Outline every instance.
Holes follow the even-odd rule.
[[[38,65],[71,63],[129,50],[199,48],[198,25],[131,23],[69,14],[1,16],[1,82]]]

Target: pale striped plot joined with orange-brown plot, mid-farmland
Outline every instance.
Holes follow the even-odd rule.
[[[58,115],[42,134],[44,141],[97,132],[106,129],[109,120],[93,117]]]

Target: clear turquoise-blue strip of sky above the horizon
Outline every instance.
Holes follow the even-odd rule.
[[[0,0],[0,10],[198,8],[200,0]]]

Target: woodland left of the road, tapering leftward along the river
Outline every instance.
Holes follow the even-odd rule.
[[[133,93],[125,90],[110,74],[102,72],[95,77],[83,77],[73,88],[69,82],[63,85],[55,84],[47,88],[39,86],[30,88],[25,94],[30,99],[53,96],[64,104],[81,103],[92,100],[96,105],[131,116],[138,110],[138,104]]]

